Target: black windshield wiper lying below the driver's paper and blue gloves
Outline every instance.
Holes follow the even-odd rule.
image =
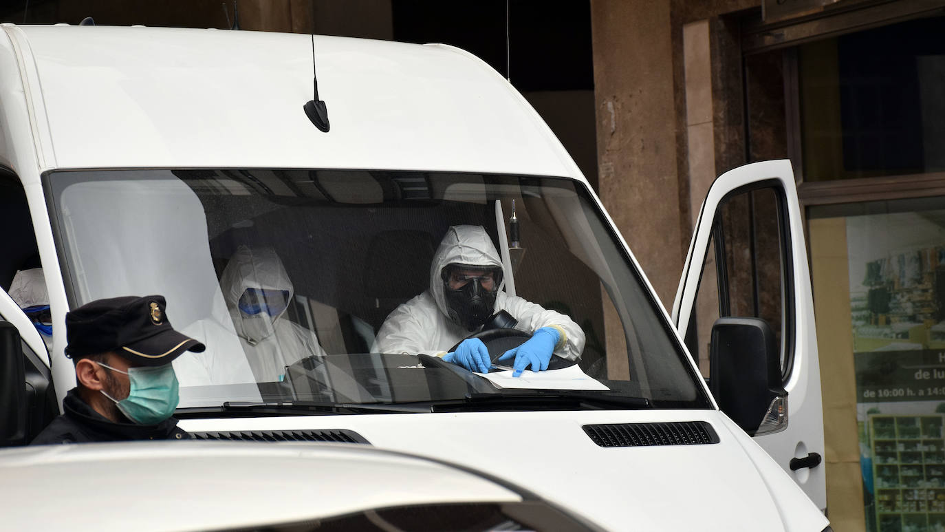
[[[524,408],[556,410],[564,405],[570,405],[576,410],[641,410],[650,407],[650,402],[645,397],[628,397],[626,395],[573,390],[471,393],[463,399],[433,401],[424,404],[429,404],[430,409],[434,412],[478,410],[483,406],[511,410],[522,410]]]

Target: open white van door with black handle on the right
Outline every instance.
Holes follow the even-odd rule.
[[[747,164],[715,180],[696,222],[673,320],[720,408],[818,507],[826,508],[814,300],[789,161]],[[773,381],[763,386],[770,392],[770,403],[762,407],[764,416],[755,416],[761,419],[749,422],[738,420],[745,418],[744,408],[733,413],[739,405],[730,404],[749,395],[757,398],[757,393],[742,389],[746,378],[739,369],[744,365],[757,370],[751,357],[761,357],[765,350],[740,349],[737,343],[732,348],[732,338],[738,335],[719,333],[732,323],[764,328],[772,352],[767,366],[758,361]],[[730,355],[742,358],[727,360]],[[721,395],[727,399],[720,400]]]

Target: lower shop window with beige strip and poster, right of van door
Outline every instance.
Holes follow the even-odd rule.
[[[940,529],[945,198],[817,206],[808,218],[821,372],[833,395],[855,397],[866,529]]]

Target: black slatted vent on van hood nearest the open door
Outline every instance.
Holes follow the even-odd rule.
[[[583,428],[593,442],[601,447],[718,443],[718,435],[712,425],[705,421],[614,423],[584,425]]]

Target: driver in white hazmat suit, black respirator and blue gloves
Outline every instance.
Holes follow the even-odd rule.
[[[481,330],[496,312],[505,310],[515,326],[532,335],[498,361],[513,363],[513,376],[526,368],[548,369],[552,354],[576,360],[584,349],[584,332],[567,316],[545,310],[503,287],[503,267],[489,233],[481,226],[454,226],[446,232],[430,266],[430,288],[387,316],[372,352],[428,353],[466,369],[488,372],[489,351],[476,338],[456,342]]]

